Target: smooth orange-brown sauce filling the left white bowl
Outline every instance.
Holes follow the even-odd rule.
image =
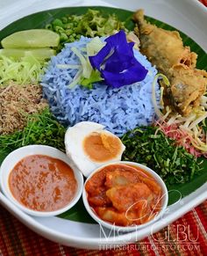
[[[27,208],[54,211],[72,201],[77,182],[73,170],[54,157],[32,155],[18,162],[9,177],[11,194]]]

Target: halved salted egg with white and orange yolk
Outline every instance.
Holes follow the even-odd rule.
[[[125,150],[118,136],[105,130],[103,125],[91,121],[82,121],[69,127],[65,146],[68,157],[86,177],[101,165],[119,161]]]

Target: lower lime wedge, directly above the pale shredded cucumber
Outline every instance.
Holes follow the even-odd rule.
[[[3,48],[0,49],[0,55],[4,55],[6,57],[12,57],[14,59],[20,59],[25,55],[33,55],[38,60],[46,60],[51,58],[51,56],[55,55],[56,52],[51,48]]]

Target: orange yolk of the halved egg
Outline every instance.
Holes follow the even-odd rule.
[[[94,162],[105,162],[117,157],[121,150],[121,141],[118,137],[107,133],[93,132],[83,141],[86,155]]]

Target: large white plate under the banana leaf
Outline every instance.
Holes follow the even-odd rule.
[[[22,18],[33,12],[45,11],[64,6],[110,6],[125,10],[135,11],[139,8],[145,9],[146,15],[160,19],[171,26],[175,26],[183,33],[195,40],[203,50],[207,51],[207,9],[197,0],[96,0],[95,1],[7,1],[8,5],[1,4],[0,29],[9,25],[14,20]],[[68,3],[69,2],[69,3]],[[19,221],[25,223],[30,229],[39,235],[51,239],[63,245],[69,245],[86,249],[104,249],[104,245],[127,244],[139,241],[148,235],[153,234],[168,223],[172,223],[177,218],[196,207],[199,203],[207,199],[207,183],[198,188],[194,193],[189,194],[174,205],[168,207],[168,212],[161,220],[153,223],[139,231],[122,234],[105,230],[98,224],[78,223],[58,217],[33,217],[27,216],[20,209],[15,207],[11,201],[0,193],[0,203],[16,216]]]

